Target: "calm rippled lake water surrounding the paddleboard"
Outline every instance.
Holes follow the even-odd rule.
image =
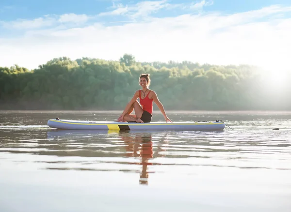
[[[224,131],[60,131],[48,119],[120,111],[1,111],[0,212],[291,211],[290,111],[170,111]],[[154,114],[153,121],[163,121]],[[278,127],[279,130],[272,130]]]

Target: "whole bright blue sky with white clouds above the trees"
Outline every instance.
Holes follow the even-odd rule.
[[[1,0],[0,66],[58,57],[290,67],[290,0]]]

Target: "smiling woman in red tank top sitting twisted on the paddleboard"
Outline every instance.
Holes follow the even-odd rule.
[[[125,107],[122,114],[119,116],[117,121],[128,121],[128,122],[138,122],[146,123],[150,122],[153,113],[153,101],[157,104],[159,109],[162,112],[166,122],[172,122],[166,115],[166,112],[162,106],[162,103],[158,99],[158,96],[155,91],[149,90],[150,85],[149,74],[141,74],[139,78],[139,84],[142,87],[142,90],[135,91],[132,99],[129,101]],[[137,98],[140,99],[140,103],[137,101]],[[135,115],[131,114],[133,111]]]

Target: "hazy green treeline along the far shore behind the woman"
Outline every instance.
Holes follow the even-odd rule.
[[[256,67],[140,63],[128,54],[119,61],[56,58],[34,70],[0,67],[0,109],[122,110],[140,89],[141,73],[150,74],[166,110],[291,109],[290,86],[269,92]]]

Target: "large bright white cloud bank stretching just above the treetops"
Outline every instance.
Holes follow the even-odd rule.
[[[147,6],[141,14],[160,8]],[[34,28],[23,37],[0,40],[0,66],[17,63],[36,68],[63,56],[118,60],[128,52],[138,61],[244,63],[282,70],[289,67],[291,18],[286,14],[290,11],[275,5],[230,15],[184,14],[118,26],[97,22],[72,29]]]

